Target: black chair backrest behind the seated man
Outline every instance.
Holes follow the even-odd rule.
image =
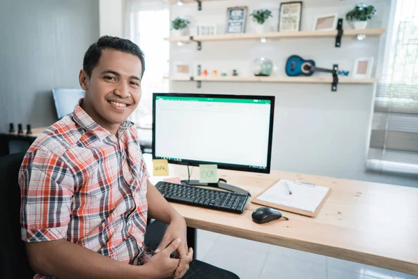
[[[17,183],[24,153],[0,157],[0,278],[33,278],[20,239],[20,187]]]

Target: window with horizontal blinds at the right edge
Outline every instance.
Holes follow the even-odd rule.
[[[398,0],[393,8],[366,167],[417,176],[418,1]]]

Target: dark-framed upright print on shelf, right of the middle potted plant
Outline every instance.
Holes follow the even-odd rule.
[[[302,19],[302,1],[280,3],[279,27],[280,31],[300,31]]]

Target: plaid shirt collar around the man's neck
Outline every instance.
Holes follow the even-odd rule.
[[[80,98],[78,105],[75,107],[74,112],[72,112],[72,118],[74,121],[79,124],[84,130],[89,130],[98,137],[99,140],[104,140],[107,136],[111,135],[111,133],[102,128],[98,123],[87,114],[85,110],[82,108],[84,98]],[[122,135],[127,128],[130,126],[134,126],[134,123],[128,120],[123,121],[121,126],[118,128],[118,136]]]

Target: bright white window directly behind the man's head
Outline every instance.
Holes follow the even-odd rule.
[[[151,128],[153,92],[168,92],[169,81],[169,7],[162,1],[127,1],[127,34],[145,55],[145,73],[141,83],[141,102],[131,120],[138,128]]]

